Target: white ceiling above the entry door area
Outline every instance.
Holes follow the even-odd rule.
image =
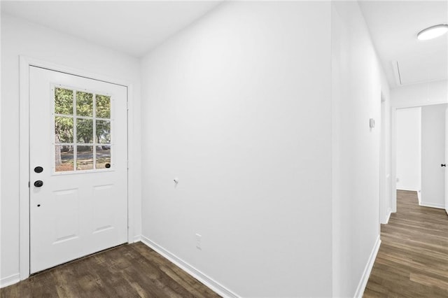
[[[1,1],[2,13],[141,57],[220,1]]]

